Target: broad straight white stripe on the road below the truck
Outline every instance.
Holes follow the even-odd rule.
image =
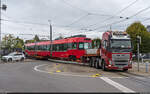
[[[109,79],[108,77],[100,77],[103,81],[105,81],[106,83],[116,87],[117,89],[121,90],[122,92],[126,92],[126,93],[135,93],[135,91]]]

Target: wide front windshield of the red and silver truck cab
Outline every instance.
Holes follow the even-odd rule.
[[[129,39],[112,39],[110,41],[111,48],[131,48],[131,41]]]

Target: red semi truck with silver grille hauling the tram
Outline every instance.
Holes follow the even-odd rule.
[[[90,67],[102,70],[127,71],[132,68],[132,44],[130,36],[122,31],[107,31],[102,35],[98,48],[86,49],[81,57]]]

